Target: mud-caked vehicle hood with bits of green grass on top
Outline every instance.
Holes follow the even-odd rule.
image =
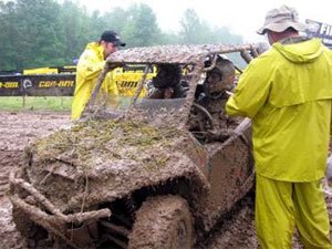
[[[60,210],[86,209],[179,177],[207,186],[189,133],[132,121],[85,122],[27,148],[28,180]],[[195,162],[195,163],[194,163]],[[205,187],[203,187],[205,188]]]

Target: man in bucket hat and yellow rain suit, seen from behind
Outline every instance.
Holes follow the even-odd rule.
[[[268,12],[258,31],[271,48],[252,60],[228,100],[229,115],[252,118],[256,231],[261,249],[332,248],[321,179],[331,125],[332,52],[301,37],[293,8]]]

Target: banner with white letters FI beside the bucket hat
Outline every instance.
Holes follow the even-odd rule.
[[[322,39],[323,44],[332,49],[332,25],[310,19],[307,19],[305,23],[308,25],[307,35]]]

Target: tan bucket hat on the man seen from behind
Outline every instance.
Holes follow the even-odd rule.
[[[282,6],[279,9],[272,9],[267,13],[264,24],[257,33],[264,34],[267,30],[282,32],[288,28],[304,31],[307,25],[299,22],[299,14],[294,8]]]

